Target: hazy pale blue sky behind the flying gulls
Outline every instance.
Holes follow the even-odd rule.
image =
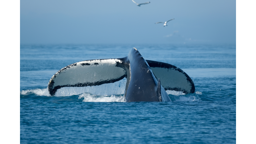
[[[235,44],[236,1],[20,1],[21,44],[184,42]]]

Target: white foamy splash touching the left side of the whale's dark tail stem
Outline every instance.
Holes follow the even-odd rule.
[[[83,93],[80,94],[78,98],[84,98],[83,102],[126,102],[125,97],[122,95],[98,96],[90,93]]]

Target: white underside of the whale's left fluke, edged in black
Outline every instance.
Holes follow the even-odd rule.
[[[53,77],[55,86],[94,83],[118,79],[125,75],[125,70],[116,67],[119,59],[87,60],[71,64],[59,70]]]

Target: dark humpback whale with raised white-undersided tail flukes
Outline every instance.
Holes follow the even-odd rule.
[[[166,90],[194,93],[192,79],[180,68],[145,60],[136,48],[124,58],[85,60],[68,65],[55,73],[48,83],[54,96],[62,87],[96,86],[127,79],[125,99],[137,101],[171,101]]]

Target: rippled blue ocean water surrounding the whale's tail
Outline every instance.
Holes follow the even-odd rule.
[[[48,93],[59,69],[122,58],[133,47],[147,60],[181,68],[195,93],[128,103],[126,79]],[[236,143],[236,45],[20,45],[20,143]]]

